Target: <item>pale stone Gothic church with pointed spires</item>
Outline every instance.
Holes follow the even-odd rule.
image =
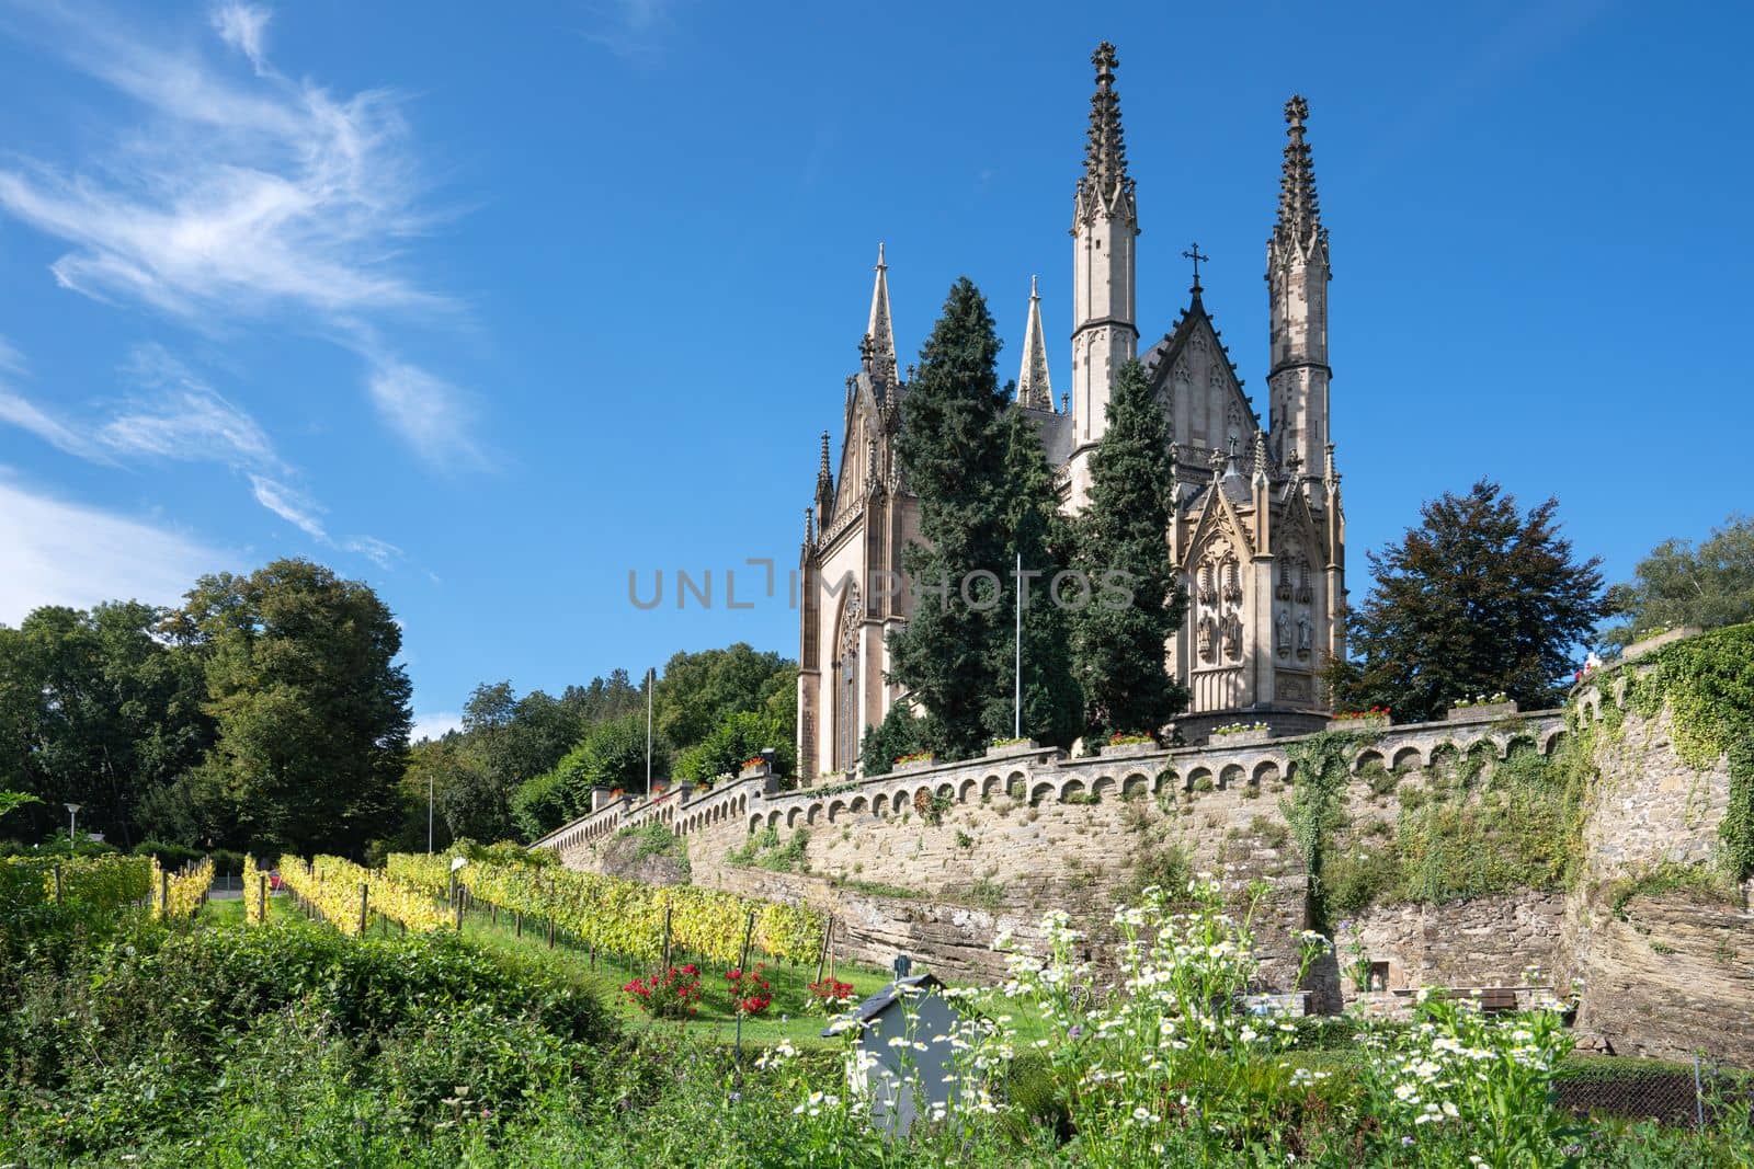
[[[1166,647],[1189,689],[1189,727],[1326,713],[1317,671],[1344,652],[1345,515],[1328,429],[1328,231],[1305,140],[1308,105],[1286,103],[1279,214],[1266,244],[1270,363],[1263,426],[1201,303],[1198,247],[1189,305],[1140,352],[1138,193],[1126,166],[1117,58],[1091,58],[1084,174],[1072,216],[1072,387],[1058,405],[1038,289],[1031,282],[1012,408],[1042,433],[1063,507],[1086,507],[1091,457],[1116,370],[1138,358],[1163,407],[1173,456],[1165,540],[1187,596]],[[888,677],[888,636],[912,598],[902,550],[919,501],[895,459],[907,379],[896,365],[882,249],[859,370],[845,382],[838,461],[823,435],[800,552],[798,771],[851,771],[865,729],[905,691]]]

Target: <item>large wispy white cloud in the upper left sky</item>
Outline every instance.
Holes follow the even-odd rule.
[[[75,67],[149,114],[95,166],[0,168],[0,209],[72,245],[53,265],[63,286],[191,321],[446,303],[393,263],[398,242],[431,224],[396,95],[337,98],[267,70],[268,11],[254,5],[214,14],[256,67],[249,84],[114,14],[58,7],[46,19]]]

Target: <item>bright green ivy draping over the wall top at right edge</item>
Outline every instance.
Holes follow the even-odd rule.
[[[1626,701],[1636,712],[1649,719],[1668,706],[1684,762],[1710,768],[1728,755],[1724,868],[1735,880],[1754,875],[1754,624],[1665,645],[1626,678]]]

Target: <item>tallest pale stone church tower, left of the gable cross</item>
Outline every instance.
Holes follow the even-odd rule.
[[[1066,505],[1089,498],[1091,456],[1109,428],[1116,370],[1138,356],[1138,203],[1126,174],[1119,67],[1103,40],[1091,56],[1096,93],[1084,145],[1084,174],[1072,202],[1072,457]]]

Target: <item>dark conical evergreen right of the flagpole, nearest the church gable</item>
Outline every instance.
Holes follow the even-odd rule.
[[[1072,654],[1093,734],[1154,734],[1187,701],[1168,671],[1168,640],[1182,620],[1168,547],[1168,442],[1145,370],[1128,361],[1114,377],[1089,505],[1075,521],[1089,599],[1073,615]]]

